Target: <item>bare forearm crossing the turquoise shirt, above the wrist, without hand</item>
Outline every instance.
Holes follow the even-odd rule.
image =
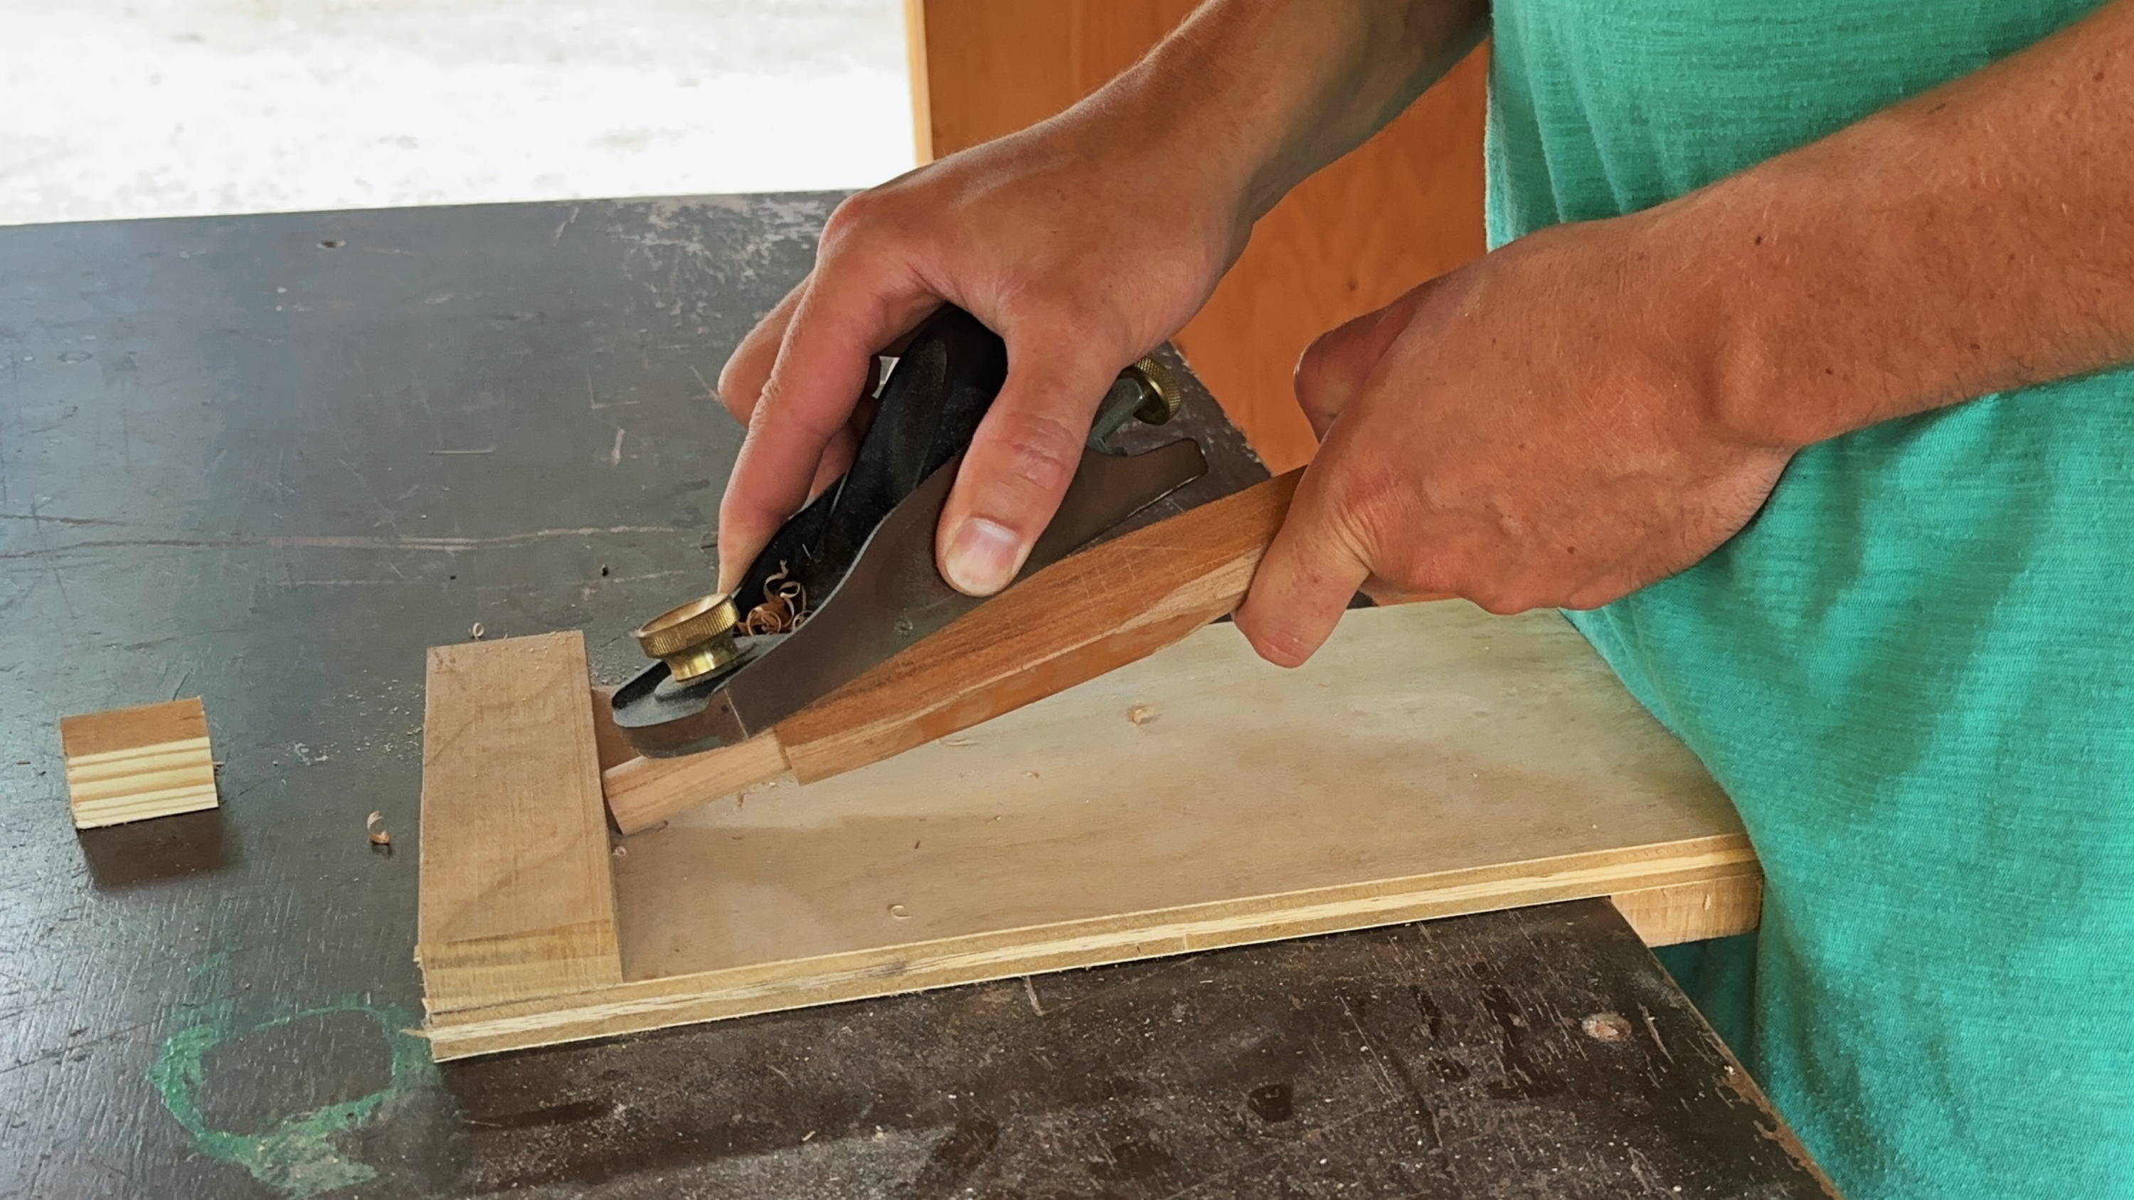
[[[2134,0],[1652,209],[1720,419],[1801,446],[2134,361]]]

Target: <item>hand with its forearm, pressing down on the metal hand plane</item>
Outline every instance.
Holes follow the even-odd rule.
[[[719,374],[749,425],[719,585],[851,461],[873,354],[952,301],[1007,342],[1007,384],[935,553],[962,591],[1005,587],[1112,378],[1199,310],[1253,220],[1451,68],[1483,17],[1481,0],[1212,0],[1067,113],[847,201],[815,271]]]

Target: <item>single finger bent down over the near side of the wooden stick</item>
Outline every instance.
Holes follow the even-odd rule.
[[[1349,521],[1334,510],[1325,474],[1317,463],[1304,470],[1289,517],[1236,613],[1238,630],[1276,666],[1304,666],[1370,577],[1366,547],[1347,534]]]

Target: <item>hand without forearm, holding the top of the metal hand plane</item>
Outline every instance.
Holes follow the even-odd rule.
[[[815,271],[734,350],[749,433],[719,506],[719,585],[851,463],[873,354],[941,301],[1007,342],[1007,382],[941,512],[943,579],[1005,587],[1058,506],[1105,389],[1178,331],[1244,248],[1236,186],[1095,107],[839,205]]]

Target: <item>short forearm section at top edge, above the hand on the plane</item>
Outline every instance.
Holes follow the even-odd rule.
[[[1451,70],[1487,0],[1212,0],[1063,120],[1191,164],[1257,220]]]

